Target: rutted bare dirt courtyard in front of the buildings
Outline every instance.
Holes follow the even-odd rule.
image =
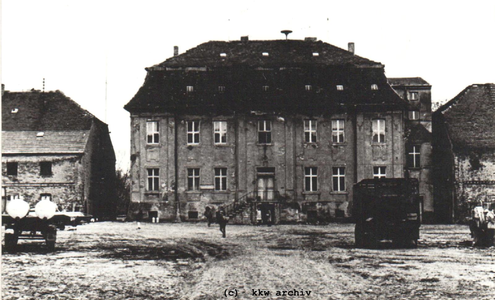
[[[222,239],[216,224],[92,223],[58,231],[54,253],[38,241],[3,252],[1,296],[208,300],[227,290],[237,299],[495,298],[494,248],[467,246],[467,226],[423,225],[420,235],[417,249],[355,249],[352,224],[227,225]],[[270,294],[253,296],[258,289]],[[294,290],[299,296],[276,295]]]

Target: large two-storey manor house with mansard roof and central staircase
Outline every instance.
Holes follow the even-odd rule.
[[[329,221],[350,216],[354,183],[404,176],[408,101],[353,43],[210,41],[146,70],[124,106],[133,217],[248,199],[235,222]]]

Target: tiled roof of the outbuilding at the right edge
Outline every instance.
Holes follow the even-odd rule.
[[[442,105],[454,149],[495,149],[495,84],[473,84]]]

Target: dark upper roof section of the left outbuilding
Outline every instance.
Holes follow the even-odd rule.
[[[5,91],[1,104],[2,131],[90,130],[96,119],[60,91]]]

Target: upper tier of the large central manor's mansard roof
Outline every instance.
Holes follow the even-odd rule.
[[[225,53],[225,55],[221,53]],[[267,53],[267,55],[263,55]],[[313,55],[318,53],[318,55]],[[210,41],[173,56],[153,67],[228,66],[232,64],[365,64],[381,65],[322,41],[266,40],[266,41]]]

